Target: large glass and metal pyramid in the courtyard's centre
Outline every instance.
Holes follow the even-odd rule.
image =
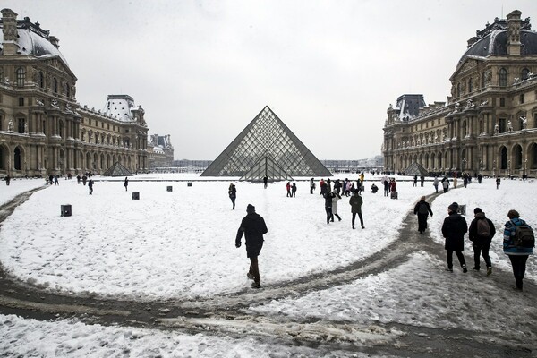
[[[249,181],[260,181],[265,175],[270,181],[332,176],[268,106],[201,174],[241,176]]]

